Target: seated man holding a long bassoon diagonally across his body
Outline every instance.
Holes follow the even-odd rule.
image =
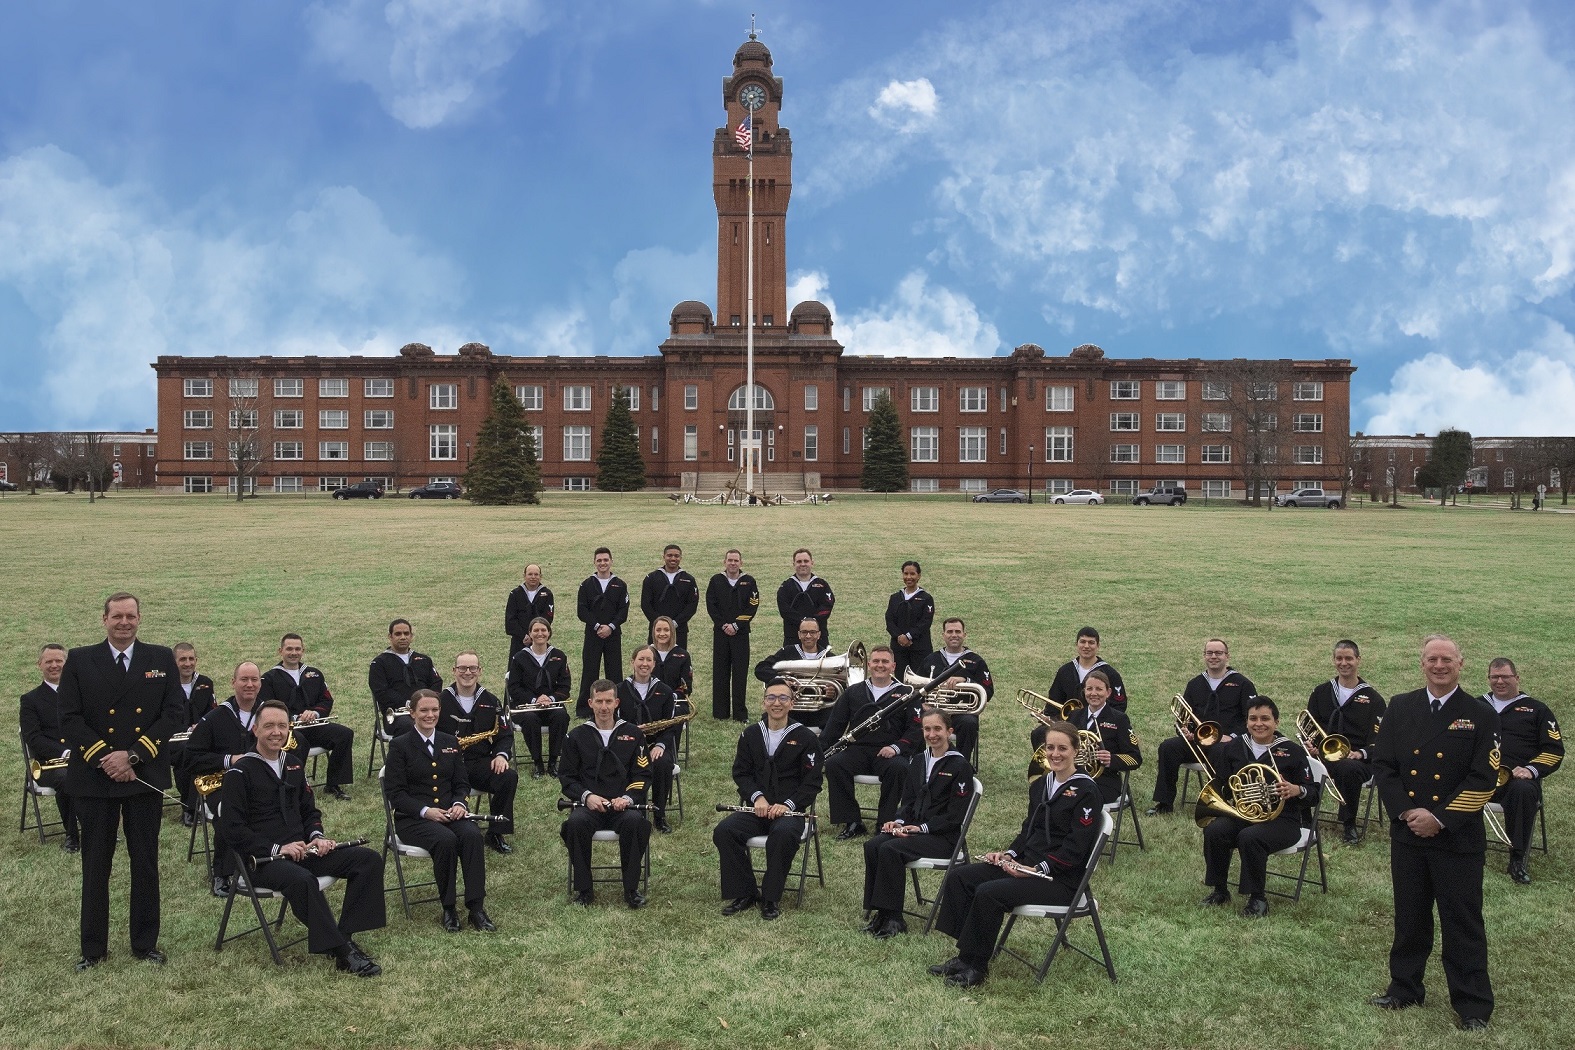
[[[896,817],[902,798],[902,781],[907,778],[906,756],[918,749],[918,710],[912,702],[899,702],[865,727],[855,740],[843,743],[843,737],[858,729],[893,701],[912,696],[910,686],[891,678],[896,660],[888,645],[869,650],[868,674],[863,682],[849,686],[832,707],[822,740],[828,741],[825,779],[832,795],[832,823],[844,825],[838,842],[857,839],[869,830],[860,819],[858,798],[854,795],[854,776],[876,775],[880,778],[880,803],[877,826],[885,826]],[[895,693],[895,694],[893,694]]]

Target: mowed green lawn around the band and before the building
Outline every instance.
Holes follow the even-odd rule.
[[[202,669],[227,694],[243,658],[269,666],[279,634],[306,636],[358,732],[351,803],[323,804],[339,837],[380,839],[383,809],[364,778],[369,660],[387,622],[408,617],[416,647],[444,678],[454,653],[477,649],[484,682],[501,686],[502,608],[526,562],[545,567],[559,598],[554,642],[578,677],[578,582],[606,545],[638,595],[660,549],[677,542],[704,587],[739,546],[764,592],[756,658],[780,645],[776,586],[795,546],[810,546],[833,586],[833,645],[884,642],[898,565],[915,557],[939,619],[967,619],[970,645],[991,663],[995,702],[984,715],[986,795],[972,849],[1005,845],[1022,820],[1030,719],[1011,696],[1046,691],[1084,623],[1104,634],[1123,674],[1145,768],[1169,735],[1167,699],[1202,667],[1203,639],[1228,639],[1232,664],[1285,713],[1329,677],[1329,647],[1354,638],[1364,674],[1383,693],[1419,685],[1429,631],[1460,639],[1466,680],[1485,690],[1487,660],[1509,655],[1526,691],[1570,718],[1575,666],[1569,609],[1575,516],[1413,505],[1405,510],[1246,510],[1191,505],[1014,507],[961,497],[849,497],[822,507],[677,507],[655,496],[551,494],[537,508],[476,508],[389,497],[326,499],[121,496],[0,501],[5,587],[0,669],[14,697],[38,682],[39,644],[102,638],[112,590],[143,600],[148,641],[195,642]],[[644,622],[630,631],[643,634]],[[937,630],[939,639],[939,630]],[[827,886],[764,924],[724,919],[710,828],[729,778],[737,727],[710,719],[710,630],[695,622],[695,754],[684,771],[687,815],[652,836],[652,905],[624,910],[613,893],[591,910],[567,904],[553,808],[556,784],[521,782],[517,852],[488,856],[488,910],[501,932],[446,935],[436,905],[406,919],[392,897],[389,927],[361,940],[384,967],[376,981],[332,973],[288,954],[272,967],[257,938],[213,951],[220,902],[184,830],[164,831],[164,934],[170,965],[131,960],[126,861],[115,875],[112,957],[76,974],[79,871],[55,841],[6,833],[0,852],[0,1045],[79,1047],[1414,1047],[1452,1031],[1443,971],[1429,971],[1422,1009],[1366,1006],[1384,987],[1391,905],[1388,845],[1328,847],[1329,893],[1273,904],[1263,921],[1203,910],[1202,856],[1189,815],[1143,820],[1148,849],[1123,847],[1096,889],[1120,982],[1077,956],[1057,959],[1044,987],[1000,962],[961,995],[925,967],[951,941],[915,930],[888,943],[858,934],[862,849],[822,844]],[[578,680],[576,680],[578,685]],[[16,705],[5,705],[0,775],[16,819],[20,768]],[[521,748],[523,751],[523,748]],[[1490,855],[1487,924],[1498,993],[1493,1030],[1473,1045],[1569,1047],[1567,943],[1570,778],[1550,782],[1551,855],[1532,855],[1536,883],[1514,886]],[[417,867],[417,872],[421,869]],[[392,864],[387,885],[394,885]],[[337,891],[335,891],[337,893]],[[1240,904],[1240,902],[1238,902]],[[287,926],[288,932],[288,926]],[[1087,924],[1074,940],[1090,945]],[[1014,943],[1047,946],[1030,924]]]

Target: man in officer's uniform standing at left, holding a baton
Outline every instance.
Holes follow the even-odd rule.
[[[109,877],[126,823],[131,855],[131,954],[164,965],[159,951],[159,822],[170,786],[164,740],[186,726],[175,653],[137,641],[135,595],[104,600],[106,639],[66,653],[60,672],[60,735],[71,748],[66,790],[82,825],[82,957],[109,954]]]

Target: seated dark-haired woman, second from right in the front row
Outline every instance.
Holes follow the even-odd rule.
[[[973,767],[951,749],[951,715],[925,708],[920,729],[925,749],[907,760],[902,804],[880,834],[865,842],[865,911],[871,918],[863,932],[882,941],[907,932],[907,863],[951,856],[973,798]]]

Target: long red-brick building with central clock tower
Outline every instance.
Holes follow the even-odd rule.
[[[1348,360],[1109,359],[1085,345],[1002,357],[847,353],[819,302],[788,309],[792,139],[783,82],[750,39],[721,82],[712,135],[717,309],[685,301],[668,338],[639,357],[454,354],[411,343],[397,357],[159,357],[159,486],[328,491],[465,474],[490,384],[513,386],[537,428],[548,488],[591,488],[602,420],[627,389],[649,483],[712,493],[740,466],[745,436],[748,153],[740,96],[764,93],[754,129],[754,444],[769,491],[857,488],[869,409],[885,390],[901,417],[915,491],[1033,486],[1136,493],[1183,482],[1208,496],[1307,483],[1340,488],[1348,464]],[[857,351],[857,346],[852,348]],[[1249,425],[1249,419],[1255,420]],[[236,480],[228,449],[263,450]],[[1249,466],[1251,464],[1251,466]]]

